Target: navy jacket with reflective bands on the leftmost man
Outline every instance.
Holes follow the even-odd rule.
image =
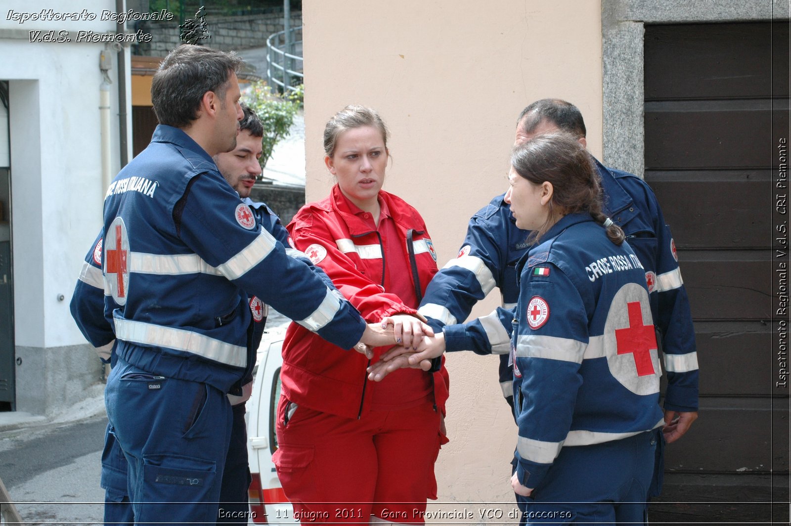
[[[149,373],[236,392],[255,361],[244,291],[345,349],[365,329],[347,301],[286,255],[211,157],[177,128],[158,126],[116,176],[103,233],[115,352]]]

